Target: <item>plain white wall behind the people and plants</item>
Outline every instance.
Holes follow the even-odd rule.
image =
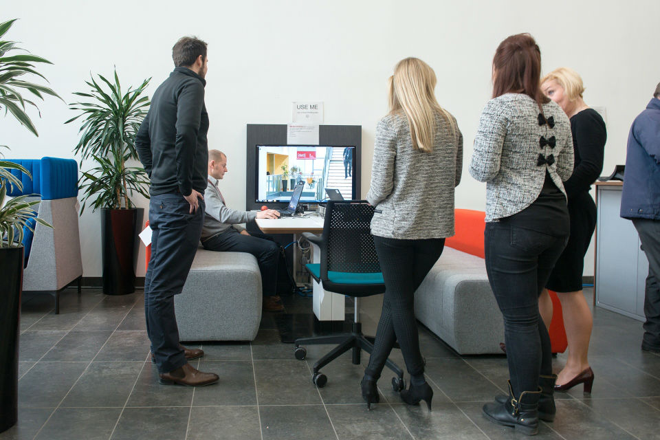
[[[186,10],[186,8],[188,8]],[[657,0],[500,1],[91,1],[5,2],[2,19],[20,18],[6,39],[54,63],[40,67],[72,102],[89,73],[125,85],[153,77],[148,93],[173,69],[171,47],[195,34],[209,43],[206,106],[209,146],[228,153],[223,195],[245,206],[245,124],[289,122],[291,102],[325,102],[325,123],[362,124],[362,188],[369,188],[374,127],[386,113],[386,79],[405,56],[429,63],[437,98],[465,137],[456,206],[483,210],[485,186],[467,174],[478,116],[491,93],[494,50],[510,34],[531,32],[544,72],[562,65],[584,79],[588,104],[605,107],[604,174],[623,164],[630,122],[660,81]],[[55,99],[32,112],[40,136],[0,118],[7,157],[72,157],[74,113]],[[147,206],[146,201],[140,201]],[[100,276],[100,218],[80,219],[85,276]],[[593,274],[593,256],[585,262]],[[139,274],[144,274],[140,264]]]

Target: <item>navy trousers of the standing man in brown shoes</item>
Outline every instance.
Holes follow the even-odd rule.
[[[151,259],[144,278],[146,333],[160,373],[186,364],[179,348],[174,296],[184,288],[195,258],[204,220],[204,201],[189,214],[190,204],[178,192],[155,195],[149,201]]]

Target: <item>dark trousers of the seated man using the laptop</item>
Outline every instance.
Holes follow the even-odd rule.
[[[248,252],[255,256],[261,272],[261,291],[264,296],[277,293],[277,265],[280,246],[270,236],[260,232],[243,235],[234,228],[212,236],[201,243],[204,249],[225,252]]]

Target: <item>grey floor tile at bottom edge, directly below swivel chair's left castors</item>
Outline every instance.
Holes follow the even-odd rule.
[[[260,406],[259,410],[263,440],[337,439],[322,405]]]

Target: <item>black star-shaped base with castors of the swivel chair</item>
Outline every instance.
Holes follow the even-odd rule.
[[[373,338],[364,336],[362,334],[362,324],[360,322],[353,322],[353,331],[351,333],[342,333],[339,335],[331,336],[314,336],[312,338],[298,338],[296,339],[296,342],[294,342],[294,351],[297,351],[298,347],[303,345],[317,344],[338,344],[338,346],[332,349],[329,353],[320,358],[314,364],[314,372],[312,373],[312,377],[314,377],[314,383],[317,383],[316,377],[320,375],[320,369],[322,369],[333,360],[336,360],[340,357],[340,355],[346,353],[347,351],[353,351],[353,364],[355,365],[360,364],[360,353],[362,350],[369,354],[373,352]],[[298,352],[296,352],[296,358],[303,360],[305,359],[305,354],[303,354],[302,357],[299,357]],[[397,375],[397,379],[399,381],[403,381],[404,371],[401,370],[397,364],[388,359],[385,362],[385,366],[387,366],[388,369],[391,369]]]

